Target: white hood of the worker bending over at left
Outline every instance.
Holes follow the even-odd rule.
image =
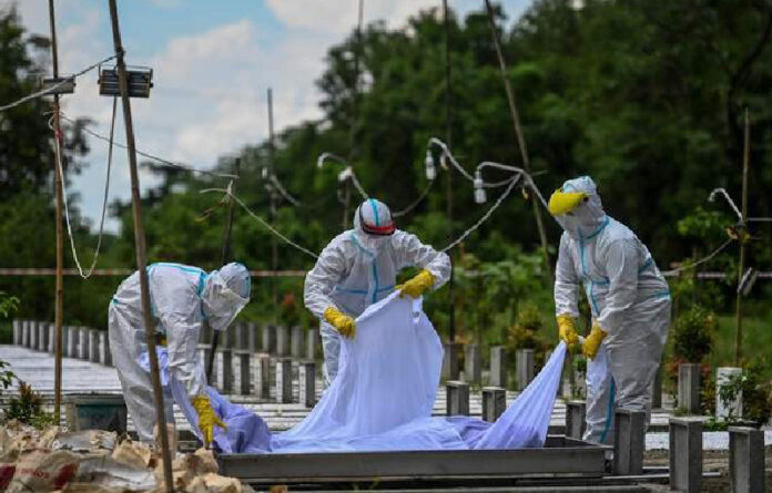
[[[225,330],[250,302],[250,271],[242,264],[227,264],[212,270],[201,294],[210,327]]]

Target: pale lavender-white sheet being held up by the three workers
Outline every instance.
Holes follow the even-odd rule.
[[[224,452],[332,452],[383,450],[519,449],[544,446],[566,347],[495,422],[431,417],[443,347],[420,300],[396,294],[356,320],[344,340],[337,378],[293,429],[271,435],[262,419],[210,392],[227,430],[215,442]],[[183,409],[187,399],[177,400]],[[190,415],[187,409],[185,414]],[[192,422],[193,423],[193,422]],[[236,436],[237,443],[234,443]]]

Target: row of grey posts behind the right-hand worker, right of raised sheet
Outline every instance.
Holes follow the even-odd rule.
[[[464,351],[464,372],[463,380],[473,386],[482,383],[482,351],[480,345],[477,343],[445,343],[445,353],[443,359],[443,379],[450,381],[459,380],[461,377],[458,356]],[[463,349],[461,349],[463,348]],[[545,360],[549,360],[551,351],[547,351]],[[572,371],[567,362],[567,371]],[[521,391],[536,377],[536,363],[532,349],[518,349],[515,352],[515,390]],[[508,356],[504,346],[494,346],[490,348],[490,368],[488,384],[491,388],[508,388]],[[563,387],[568,387],[568,378],[565,379]],[[570,396],[568,389],[558,389],[558,393]],[[484,401],[485,402],[485,401]],[[661,366],[657,371],[657,377],[652,386],[652,407],[658,409],[662,407],[662,371]]]

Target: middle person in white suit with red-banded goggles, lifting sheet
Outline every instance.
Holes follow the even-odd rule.
[[[406,267],[423,270],[402,286]],[[322,321],[324,374],[338,371],[341,337],[355,335],[354,319],[395,289],[413,298],[443,286],[450,277],[450,258],[396,228],[386,204],[369,198],[354,214],[354,229],[336,236],[305,279],[305,306]]]

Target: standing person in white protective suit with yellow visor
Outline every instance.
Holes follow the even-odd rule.
[[[555,279],[560,339],[576,347],[583,286],[592,329],[581,351],[587,370],[585,440],[610,443],[614,408],[651,411],[651,386],[670,325],[670,291],[646,245],[606,215],[588,176],[569,179],[549,199],[563,227]]]

